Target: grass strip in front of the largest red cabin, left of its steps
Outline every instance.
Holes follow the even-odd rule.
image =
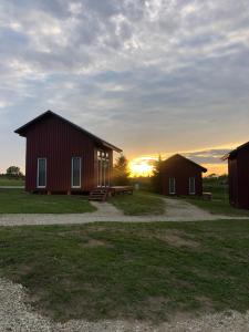
[[[84,196],[48,196],[23,189],[0,189],[0,214],[82,214],[94,210]]]

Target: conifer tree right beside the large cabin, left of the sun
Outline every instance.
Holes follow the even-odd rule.
[[[128,160],[124,155],[116,158],[113,167],[113,183],[116,186],[126,186],[129,184]]]

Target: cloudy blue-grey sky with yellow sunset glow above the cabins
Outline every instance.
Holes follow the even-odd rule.
[[[249,141],[248,0],[1,0],[0,170],[52,110],[129,158]]]

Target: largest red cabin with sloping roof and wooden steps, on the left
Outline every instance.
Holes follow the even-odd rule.
[[[15,131],[27,137],[25,190],[90,191],[111,185],[113,152],[122,151],[48,111]]]

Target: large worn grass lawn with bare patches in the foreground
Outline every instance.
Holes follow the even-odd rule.
[[[249,309],[249,221],[0,228],[0,276],[55,320]]]

